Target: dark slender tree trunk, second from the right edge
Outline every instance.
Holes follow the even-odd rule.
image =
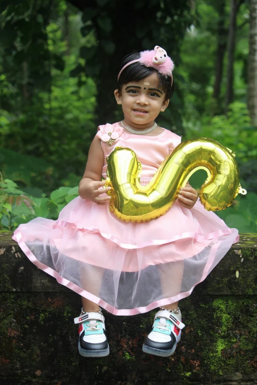
[[[228,105],[234,98],[233,80],[234,80],[234,52],[235,52],[235,31],[236,31],[236,0],[230,0],[230,23],[227,42],[227,83],[225,96],[225,113]]]

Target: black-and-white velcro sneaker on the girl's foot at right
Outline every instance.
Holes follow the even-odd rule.
[[[143,352],[168,357],[172,355],[180,341],[181,329],[185,325],[168,310],[160,310],[155,315],[152,331],[146,337]]]

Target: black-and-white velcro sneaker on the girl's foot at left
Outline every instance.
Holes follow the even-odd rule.
[[[101,311],[74,318],[79,325],[78,351],[83,357],[105,357],[110,353]]]

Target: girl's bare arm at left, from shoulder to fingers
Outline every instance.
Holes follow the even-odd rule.
[[[102,181],[102,166],[104,163],[104,156],[101,148],[101,140],[95,136],[88,153],[88,161],[86,164],[85,173],[79,182],[79,195],[83,199],[88,199],[95,202],[97,205],[107,205],[110,197],[100,197],[99,195],[107,193],[111,188],[104,186],[106,183]]]

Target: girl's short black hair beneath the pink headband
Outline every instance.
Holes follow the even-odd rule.
[[[140,53],[130,54],[125,56],[125,58],[122,59],[119,71],[129,61],[139,59],[139,58],[140,58]],[[170,99],[174,92],[174,82],[171,86],[171,77],[164,76],[160,72],[158,72],[155,68],[146,67],[144,64],[141,64],[138,61],[136,63],[129,64],[128,67],[124,68],[118,80],[118,91],[121,92],[122,86],[124,84],[128,84],[129,82],[138,82],[139,80],[142,80],[147,76],[152,75],[154,72],[158,74],[159,87],[165,93],[165,100]]]

